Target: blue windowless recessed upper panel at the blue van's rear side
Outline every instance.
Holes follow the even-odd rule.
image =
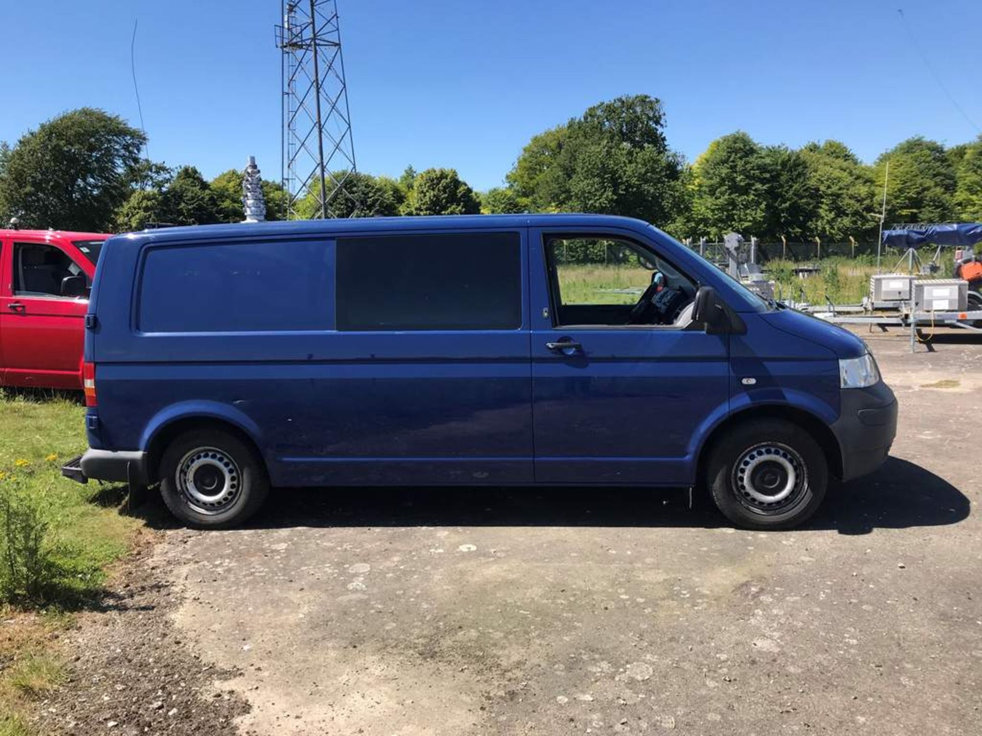
[[[143,332],[330,329],[328,243],[235,242],[147,251]]]

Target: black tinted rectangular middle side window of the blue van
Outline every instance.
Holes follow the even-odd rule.
[[[515,330],[518,233],[338,239],[338,330]]]

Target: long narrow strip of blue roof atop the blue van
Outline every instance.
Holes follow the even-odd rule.
[[[647,223],[630,217],[589,214],[546,215],[439,215],[422,217],[365,217],[355,219],[289,220],[233,225],[195,225],[181,228],[159,228],[128,233],[130,240],[164,239],[188,240],[221,237],[264,237],[283,235],[315,235],[319,233],[383,233],[390,230],[466,230],[472,228],[528,227],[622,227],[637,230]],[[116,237],[114,239],[119,239]]]

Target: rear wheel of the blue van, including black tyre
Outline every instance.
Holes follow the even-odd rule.
[[[175,516],[199,529],[244,522],[269,491],[269,479],[251,447],[217,429],[181,435],[160,459],[160,495]]]

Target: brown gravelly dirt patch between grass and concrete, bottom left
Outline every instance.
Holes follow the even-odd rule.
[[[68,681],[38,704],[45,734],[167,733],[232,736],[246,701],[221,683],[238,673],[191,652],[171,613],[180,594],[144,546],[120,570],[97,611],[82,613],[62,637]]]

